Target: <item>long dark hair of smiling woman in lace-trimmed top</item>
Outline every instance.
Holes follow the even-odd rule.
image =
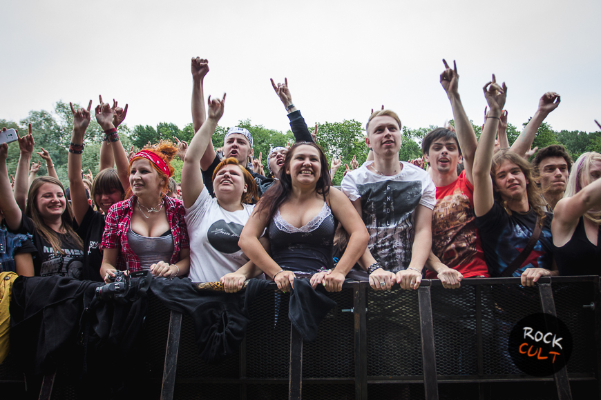
[[[274,214],[276,214],[278,208],[280,208],[280,206],[287,201],[290,193],[292,192],[292,178],[290,177],[290,174],[286,173],[286,170],[289,168],[290,162],[292,161],[292,155],[298,146],[312,146],[318,150],[319,161],[321,163],[321,175],[317,180],[315,190],[318,192],[318,194],[323,196],[324,201],[327,194],[330,193],[330,186],[332,186],[332,179],[330,178],[330,164],[327,163],[327,158],[325,157],[325,154],[323,154],[323,150],[321,150],[321,147],[313,142],[298,142],[286,153],[284,164],[278,173],[278,181],[271,185],[271,188],[269,188],[269,190],[263,194],[263,197],[261,197],[257,203],[256,212],[267,212],[268,219],[274,217]]]

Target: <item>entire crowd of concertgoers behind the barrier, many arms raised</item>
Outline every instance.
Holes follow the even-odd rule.
[[[429,132],[423,158],[405,162],[399,116],[372,112],[368,161],[346,166],[340,189],[331,174],[341,161],[327,161],[286,80],[271,84],[296,143],[271,149],[267,174],[245,128],[230,128],[222,148],[213,148],[226,94],[205,101],[206,59],[191,61],[190,143],[150,143],[128,153],[117,133],[128,106],[99,98],[94,113],[105,138],[92,181],[82,176],[92,101],[72,105],[67,190],[43,149],[48,176],[36,177],[31,126],[18,139],[12,184],[8,144],[0,146],[0,191],[13,194],[0,197],[1,270],[106,283],[117,270],[149,270],[220,281],[227,292],[252,278],[273,279],[289,292],[303,278],[339,291],[348,278],[390,290],[417,289],[423,277],[459,288],[464,278],[521,277],[533,286],[544,276],[599,274],[601,154],[586,152],[573,162],[563,146],[552,145],[527,159],[560,96],[541,97],[510,147],[508,88],[493,75],[483,88],[488,106],[478,140],[459,96],[457,66],[444,66],[440,83],[455,125]],[[183,160],[180,183],[173,180],[174,157]]]

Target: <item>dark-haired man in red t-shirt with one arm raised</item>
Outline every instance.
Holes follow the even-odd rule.
[[[474,214],[472,166],[478,142],[459,97],[457,66],[451,69],[446,61],[444,64],[446,69],[440,83],[451,103],[457,134],[437,128],[421,141],[437,199],[432,213],[432,252],[426,263],[426,278],[440,279],[445,288],[459,288],[463,278],[490,275]],[[464,170],[457,174],[457,164],[461,161]]]

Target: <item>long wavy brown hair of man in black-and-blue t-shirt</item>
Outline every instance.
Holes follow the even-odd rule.
[[[544,201],[544,197],[542,197],[542,191],[538,187],[535,177],[533,177],[533,168],[530,163],[526,161],[526,159],[520,157],[519,154],[511,150],[500,150],[496,152],[493,156],[493,165],[490,168],[490,177],[493,179],[493,188],[497,187],[497,179],[495,178],[497,169],[499,169],[504,161],[514,163],[519,167],[520,170],[522,170],[522,173],[527,181],[526,194],[528,195],[528,206],[533,208],[534,212],[540,217],[540,223],[542,226],[543,220],[546,217],[544,213],[544,207],[546,206],[546,203]],[[503,205],[505,211],[511,215],[511,210],[507,207],[507,204],[503,200],[501,193],[495,190],[494,197],[496,201],[499,201],[499,203]]]

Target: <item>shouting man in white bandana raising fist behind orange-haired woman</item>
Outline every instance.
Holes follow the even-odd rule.
[[[192,59],[192,124],[194,132],[198,132],[202,123],[206,119],[204,108],[204,92],[203,83],[204,76],[209,72],[209,61],[200,59],[199,57]],[[223,158],[233,157],[238,160],[241,166],[246,166],[247,170],[254,177],[257,185],[260,188],[260,183],[266,179],[261,174],[256,174],[251,168],[248,168],[248,160],[253,146],[252,134],[245,128],[235,126],[229,128],[223,142]],[[207,150],[200,159],[200,168],[202,170],[202,179],[204,186],[209,190],[209,194],[213,194],[213,171],[220,163],[221,159],[213,148],[212,141],[209,142]],[[260,193],[259,193],[260,195]],[[257,199],[258,200],[258,199]]]

